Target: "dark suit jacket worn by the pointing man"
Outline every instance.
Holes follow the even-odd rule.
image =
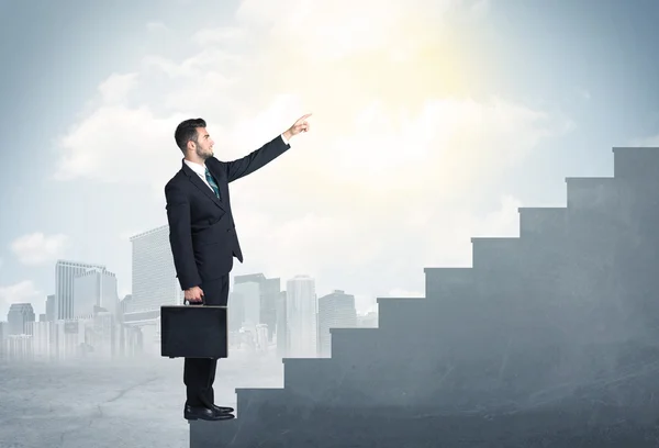
[[[237,160],[209,158],[205,165],[217,182],[221,199],[185,163],[167,182],[169,243],[182,290],[228,273],[234,256],[243,262],[231,212],[228,182],[256,171],[289,148],[290,145],[278,136]]]

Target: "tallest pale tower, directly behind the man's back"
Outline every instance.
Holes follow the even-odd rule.
[[[161,305],[177,305],[183,301],[169,245],[169,226],[144,232],[130,240],[133,244],[133,275],[126,313],[153,312],[153,318],[156,318]]]

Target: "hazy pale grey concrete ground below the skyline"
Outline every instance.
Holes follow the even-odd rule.
[[[280,388],[273,356],[221,360],[215,402],[236,407],[235,388]],[[0,447],[189,446],[182,360],[93,365],[0,363]]]

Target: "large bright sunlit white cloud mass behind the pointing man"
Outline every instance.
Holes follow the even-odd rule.
[[[423,291],[423,267],[468,264],[471,236],[517,228],[516,200],[483,213],[470,204],[474,186],[572,128],[562,116],[465,93],[466,46],[455,30],[447,37],[449,19],[485,5],[245,0],[235,24],[190,37],[203,46],[198,54],[145,57],[137,76],[122,78],[123,90],[115,78],[127,98],[163,87],[138,108],[108,102],[119,93],[99,99],[60,139],[57,178],[146,184],[161,199],[180,168],[172,134],[181,120],[206,119],[217,157],[228,160],[312,112],[310,134],[232,184],[246,257],[235,272],[309,272],[319,293],[339,282],[360,303]],[[238,55],[232,45],[245,35]]]

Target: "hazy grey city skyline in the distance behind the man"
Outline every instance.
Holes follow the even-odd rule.
[[[182,305],[169,246],[169,226],[130,238],[132,293],[119,299],[116,276],[105,266],[55,262],[55,293],[46,312],[13,303],[0,322],[0,361],[56,362],[160,356],[160,306]],[[377,327],[378,313],[358,314],[343,290],[319,298],[315,279],[287,280],[261,272],[234,276],[228,299],[230,349],[277,357],[328,358],[331,328]]]

